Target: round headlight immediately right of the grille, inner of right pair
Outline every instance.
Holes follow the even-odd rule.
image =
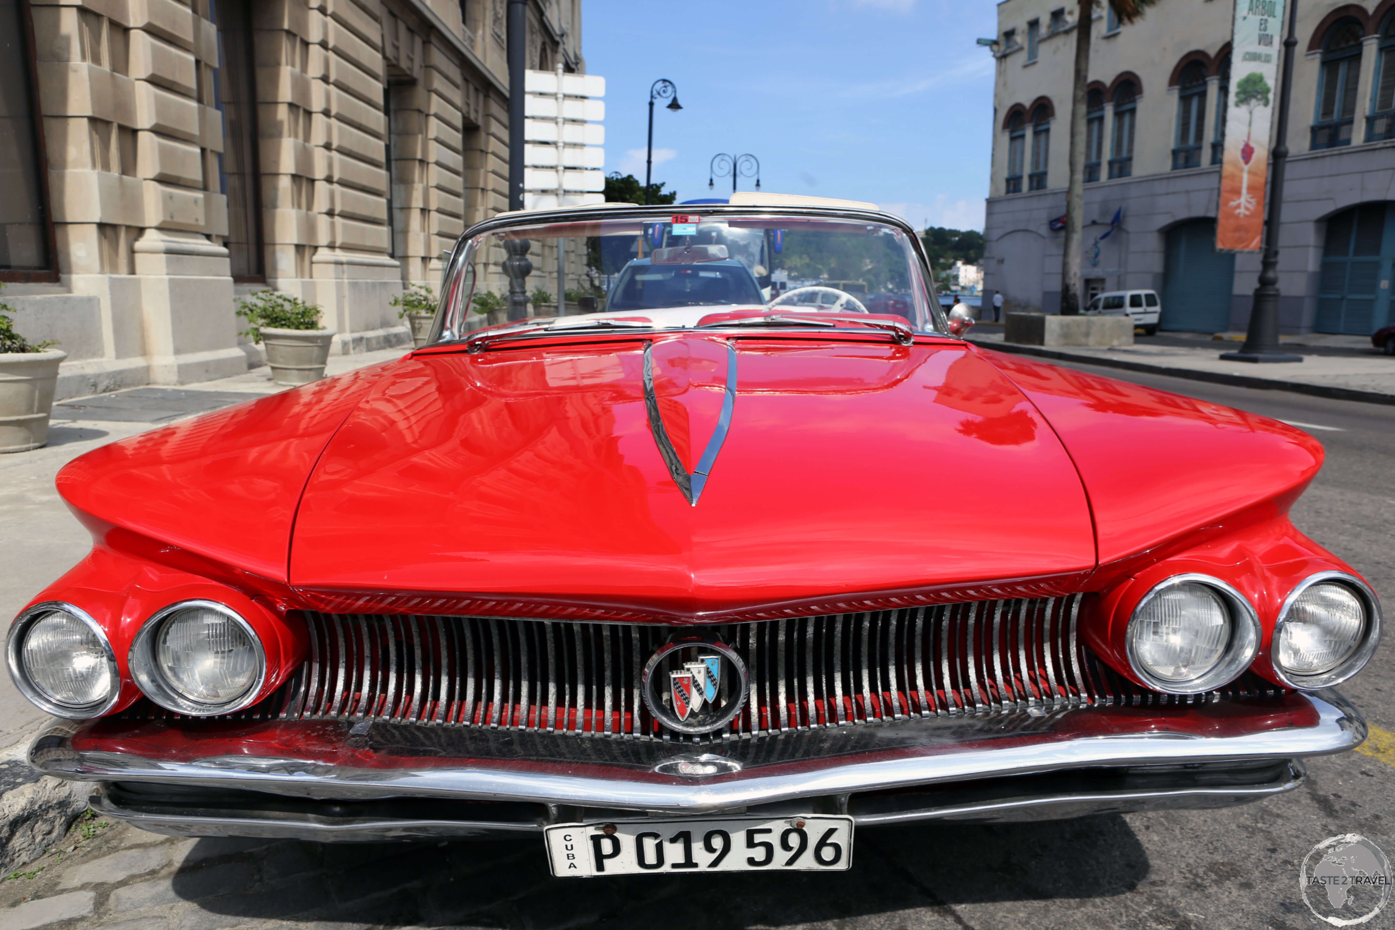
[[[1149,687],[1197,694],[1243,672],[1260,650],[1260,618],[1233,587],[1177,574],[1138,601],[1126,633],[1129,664]]]

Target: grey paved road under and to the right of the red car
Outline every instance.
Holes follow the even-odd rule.
[[[1310,429],[1328,460],[1293,519],[1395,602],[1395,409],[1096,371]],[[1395,731],[1392,650],[1387,637],[1343,689],[1381,731]],[[64,862],[0,883],[0,927],[1307,929],[1324,926],[1299,897],[1297,863],[1314,844],[1360,832],[1395,855],[1395,753],[1385,759],[1315,760],[1303,789],[1223,811],[866,830],[840,877],[558,881],[537,841],[174,841],[93,821]]]

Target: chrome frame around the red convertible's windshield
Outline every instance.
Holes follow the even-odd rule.
[[[427,337],[425,346],[435,346],[442,342],[442,335],[445,329],[446,310],[453,301],[462,298],[456,291],[463,283],[466,276],[466,254],[469,252],[469,245],[472,240],[494,233],[502,229],[519,227],[519,226],[545,226],[550,223],[576,223],[576,222],[604,222],[604,220],[640,220],[644,222],[650,215],[656,218],[663,218],[671,215],[674,209],[679,205],[650,205],[639,206],[635,204],[597,204],[594,206],[569,206],[562,209],[545,209],[545,211],[511,211],[505,213],[498,213],[487,220],[476,223],[474,226],[465,230],[460,237],[455,241],[451,248],[449,259],[446,261],[445,269],[441,275],[441,301],[437,305],[435,321],[431,323],[431,332]],[[939,294],[935,290],[935,276],[930,273],[929,261],[925,255],[925,244],[921,241],[919,233],[911,227],[911,224],[894,216],[891,213],[883,213],[880,211],[868,211],[858,208],[844,208],[844,206],[808,206],[808,205],[759,205],[746,206],[730,204],[702,204],[692,208],[695,212],[703,215],[704,218],[721,219],[728,218],[777,218],[777,216],[794,216],[794,218],[809,218],[809,219],[831,219],[831,220],[851,220],[854,223],[876,223],[880,226],[889,226],[901,231],[911,243],[911,252],[915,255],[919,268],[917,269],[921,276],[921,283],[925,287],[926,300],[926,314],[930,319],[932,329],[925,330],[921,335],[937,336],[946,339],[958,339],[950,332],[949,319],[944,315],[944,310],[940,307]],[[656,219],[654,222],[660,222]],[[512,321],[515,323],[522,323],[525,321]],[[663,332],[663,328],[654,328],[654,332]],[[449,342],[460,343],[463,342],[465,333],[452,335]]]

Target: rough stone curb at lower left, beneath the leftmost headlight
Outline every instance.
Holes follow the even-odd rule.
[[[29,743],[46,725],[0,749],[0,880],[63,839],[92,793],[88,784],[40,775],[29,765]]]

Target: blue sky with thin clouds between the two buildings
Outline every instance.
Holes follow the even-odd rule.
[[[713,155],[751,152],[763,191],[983,227],[993,59],[974,39],[996,32],[989,0],[587,0],[582,15],[607,171],[643,180],[649,88],[668,78],[684,109],[654,106],[654,180],[679,199],[709,197]]]

